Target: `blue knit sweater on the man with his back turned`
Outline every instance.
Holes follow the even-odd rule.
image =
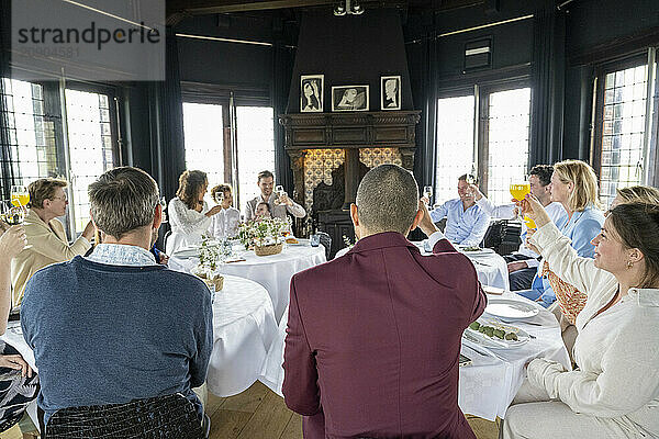
[[[71,406],[192,392],[213,347],[205,284],[164,266],[126,267],[76,257],[35,273],[21,325],[48,418]]]

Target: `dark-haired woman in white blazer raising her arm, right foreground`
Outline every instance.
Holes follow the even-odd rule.
[[[577,317],[578,369],[535,359],[503,438],[659,438],[659,205],[621,204],[580,258],[533,196],[528,238],[561,279],[588,294]]]

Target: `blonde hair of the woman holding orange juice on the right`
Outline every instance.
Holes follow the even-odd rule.
[[[581,160],[559,161],[554,165],[554,172],[563,184],[574,185],[568,198],[568,207],[572,212],[581,212],[589,205],[600,207],[597,176],[589,164]]]

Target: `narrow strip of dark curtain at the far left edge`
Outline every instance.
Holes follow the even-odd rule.
[[[0,184],[2,185],[0,198],[9,200],[10,189],[13,183],[13,170],[11,166],[11,147],[9,132],[9,114],[4,95],[4,81],[10,71],[10,45],[11,45],[11,1],[0,0]]]

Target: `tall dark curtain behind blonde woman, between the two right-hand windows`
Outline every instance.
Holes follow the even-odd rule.
[[[561,158],[565,101],[565,14],[547,2],[534,18],[529,166]]]

